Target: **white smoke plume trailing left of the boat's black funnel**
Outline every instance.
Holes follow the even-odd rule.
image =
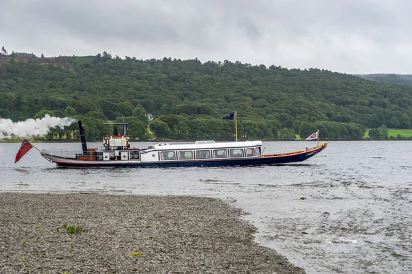
[[[10,119],[0,118],[0,139],[12,138],[13,136],[29,137],[45,135],[52,127],[63,128],[75,123],[76,119],[65,117],[51,117],[46,114],[42,119],[27,119],[14,123]]]

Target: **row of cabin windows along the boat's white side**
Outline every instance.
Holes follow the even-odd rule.
[[[197,150],[196,159],[211,159],[210,150]],[[228,158],[228,149],[214,149],[213,158]],[[258,148],[246,149],[246,156],[253,157],[259,153]],[[230,158],[241,158],[244,157],[244,149],[229,149]],[[178,151],[177,153],[179,160],[193,160],[193,151]],[[174,151],[161,151],[161,160],[176,160],[176,155]]]

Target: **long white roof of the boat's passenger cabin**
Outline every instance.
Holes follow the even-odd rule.
[[[155,144],[148,146],[147,150],[192,150],[192,149],[233,149],[258,147],[262,145],[262,141],[244,141],[244,142],[195,142],[191,144]]]

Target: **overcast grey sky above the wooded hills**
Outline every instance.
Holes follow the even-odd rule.
[[[411,0],[0,0],[0,47],[412,73]]]

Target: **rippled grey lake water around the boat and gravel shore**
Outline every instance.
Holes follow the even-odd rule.
[[[264,142],[265,152],[308,146]],[[216,197],[249,212],[257,242],[307,273],[412,273],[412,142],[331,142],[299,164],[173,169],[56,169],[34,149],[14,164],[19,147],[0,144],[1,192]]]

